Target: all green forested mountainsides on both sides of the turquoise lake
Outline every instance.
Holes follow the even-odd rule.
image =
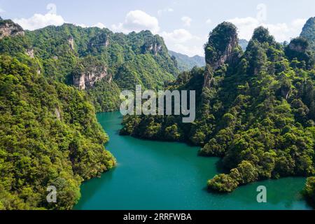
[[[315,204],[314,27],[310,18],[290,43],[258,27],[247,44],[223,22],[210,31],[201,62],[169,55],[151,31],[71,24],[24,31],[0,18],[0,210],[72,209],[81,183],[116,165],[96,113],[117,111],[120,91],[138,84],[196,90],[196,120],[125,116],[120,134],[185,141],[200,146],[200,156],[220,157],[225,172],[204,180],[210,191],[307,176],[303,193]],[[50,185],[59,189],[54,204],[46,200]]]

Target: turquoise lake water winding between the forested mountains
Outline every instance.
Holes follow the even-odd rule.
[[[119,112],[99,113],[109,134],[106,148],[116,168],[81,186],[74,209],[311,209],[300,195],[304,178],[260,181],[233,193],[207,192],[207,180],[220,172],[218,158],[197,156],[198,147],[120,136]],[[256,201],[266,186],[267,203]]]

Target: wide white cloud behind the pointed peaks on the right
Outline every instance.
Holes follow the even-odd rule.
[[[285,22],[268,24],[252,17],[234,18],[228,21],[237,26],[239,30],[239,38],[249,40],[253,35],[253,30],[262,26],[269,29],[270,34],[276,38],[276,41],[282,42],[290,41],[290,38],[299,36],[306,19],[296,19],[290,22],[290,24]]]

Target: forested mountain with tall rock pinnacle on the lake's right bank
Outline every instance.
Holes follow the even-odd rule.
[[[183,72],[169,85],[196,90],[195,122],[127,116],[121,134],[189,141],[202,146],[200,155],[220,156],[226,173],[208,181],[219,192],[261,179],[314,175],[315,70],[308,44],[294,38],[282,45],[258,27],[243,52],[236,27],[223,22],[209,34],[205,69]],[[311,192],[314,179],[308,183]]]

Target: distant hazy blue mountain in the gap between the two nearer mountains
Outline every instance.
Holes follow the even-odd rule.
[[[177,66],[180,71],[189,71],[193,69],[194,66],[202,67],[206,65],[206,63],[204,62],[204,57],[198,55],[189,57],[187,55],[183,55],[172,50],[169,50],[169,55],[175,57]]]

